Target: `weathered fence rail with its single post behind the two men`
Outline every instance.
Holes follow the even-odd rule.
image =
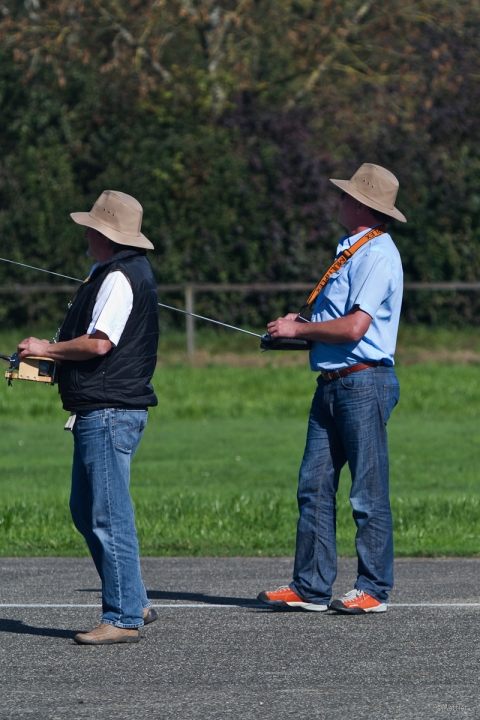
[[[184,295],[184,307],[187,312],[195,312],[195,295],[204,292],[222,293],[222,292],[241,292],[252,294],[277,293],[277,292],[310,292],[313,283],[186,283],[186,284],[167,284],[157,285],[159,294],[177,293]],[[463,291],[479,291],[480,283],[476,282],[406,282],[405,290],[447,290],[451,292]],[[71,283],[64,284],[34,284],[22,285],[20,283],[12,283],[10,285],[0,285],[0,295],[32,295],[35,293],[66,293],[74,294],[78,290],[78,285]],[[187,332],[187,354],[193,357],[195,354],[195,318],[186,315],[186,332]]]

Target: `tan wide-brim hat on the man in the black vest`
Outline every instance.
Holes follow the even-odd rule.
[[[119,245],[133,245],[153,250],[140,232],[143,208],[134,197],[118,190],[104,190],[89,213],[70,213],[78,225],[98,230]]]

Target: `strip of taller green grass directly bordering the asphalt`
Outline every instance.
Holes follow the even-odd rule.
[[[184,491],[135,503],[142,555],[291,556],[297,510],[285,495],[205,497]],[[480,500],[392,498],[397,556],[478,555]],[[350,504],[338,502],[340,555],[355,555]],[[477,551],[475,551],[477,548]],[[66,498],[0,503],[0,555],[88,555]]]

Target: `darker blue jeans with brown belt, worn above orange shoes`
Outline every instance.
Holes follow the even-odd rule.
[[[395,370],[379,366],[338,380],[320,376],[300,468],[292,590],[328,604],[337,576],[335,538],[340,471],[348,462],[357,526],[355,588],[385,602],[393,587],[393,531],[386,424],[398,402]]]

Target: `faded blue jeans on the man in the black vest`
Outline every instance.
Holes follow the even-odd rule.
[[[130,462],[147,424],[146,410],[77,414],[70,510],[102,581],[102,622],[143,625],[150,607],[140,572],[130,498]]]

